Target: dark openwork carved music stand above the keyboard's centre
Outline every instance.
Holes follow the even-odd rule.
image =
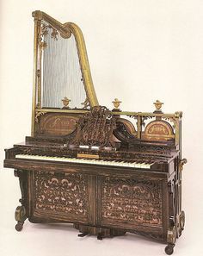
[[[72,144],[114,147],[115,118],[106,107],[95,106],[77,122],[77,134]]]

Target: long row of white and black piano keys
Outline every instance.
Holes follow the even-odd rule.
[[[77,158],[66,158],[66,157],[50,157],[50,156],[41,156],[41,155],[30,155],[30,154],[16,154],[16,159],[35,159],[35,160],[48,160],[48,161],[58,161],[58,162],[67,162],[67,163],[79,163],[79,164],[92,164],[92,165],[114,165],[122,167],[131,167],[131,168],[143,168],[150,169],[153,163],[144,163],[136,161],[120,161],[118,160],[109,160],[109,159],[77,159]]]

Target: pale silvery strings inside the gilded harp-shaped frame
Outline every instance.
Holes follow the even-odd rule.
[[[42,106],[44,108],[62,108],[62,99],[71,99],[70,108],[83,108],[86,98],[82,72],[77,54],[75,37],[71,34],[64,39],[58,34],[58,40],[51,36],[49,29],[45,35],[47,47],[43,50]]]

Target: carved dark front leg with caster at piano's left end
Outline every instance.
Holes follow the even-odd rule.
[[[27,212],[26,212],[26,196],[27,196],[27,172],[23,172],[21,170],[15,170],[14,171],[15,177],[19,178],[20,188],[22,192],[22,198],[19,200],[20,203],[22,203],[21,206],[18,206],[15,209],[15,221],[17,224],[15,225],[15,229],[17,231],[22,231],[23,224],[25,220],[27,219]]]

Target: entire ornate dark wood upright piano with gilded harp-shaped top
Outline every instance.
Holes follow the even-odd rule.
[[[83,34],[34,11],[32,135],[6,149],[4,167],[20,180],[15,229],[70,222],[79,236],[126,232],[167,244],[184,228],[181,210],[181,112],[99,105]]]

